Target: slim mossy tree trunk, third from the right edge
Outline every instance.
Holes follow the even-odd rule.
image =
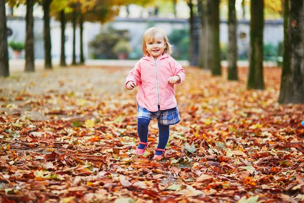
[[[236,0],[229,0],[228,14],[228,80],[238,80],[238,49],[237,49],[237,18],[236,18]]]

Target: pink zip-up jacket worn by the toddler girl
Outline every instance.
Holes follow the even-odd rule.
[[[180,83],[185,79],[183,68],[170,55],[160,55],[156,61],[143,56],[127,76],[126,85],[130,81],[139,85],[137,103],[148,111],[158,111],[158,105],[160,110],[172,109],[177,106],[174,84],[167,81],[172,76],[179,76]]]

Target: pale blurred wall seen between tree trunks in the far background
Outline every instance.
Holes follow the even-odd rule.
[[[128,19],[116,18],[115,21],[101,25],[100,23],[84,23],[84,55],[85,58],[89,57],[90,48],[89,43],[100,32],[101,28],[111,25],[116,29],[127,29],[131,36],[131,45],[133,49],[141,49],[141,38],[148,25],[154,24],[155,26],[162,27],[167,35],[170,35],[173,29],[188,29],[188,20],[186,19]],[[23,17],[8,17],[7,25],[13,30],[13,35],[8,38],[8,41],[15,39],[17,41],[25,41],[25,19]],[[244,31],[247,33],[245,41],[238,40],[239,48],[247,48],[249,46],[250,26],[248,22],[239,21],[238,33]],[[65,35],[67,41],[65,43],[65,54],[67,63],[71,61],[72,57],[72,25],[67,23]],[[264,25],[264,43],[273,43],[277,45],[278,42],[283,41],[283,22],[282,21],[266,21]],[[35,37],[35,58],[44,58],[44,45],[43,45],[43,19],[34,19],[34,37]],[[60,59],[61,50],[61,28],[60,22],[51,20],[51,38],[52,38],[52,57],[53,59]],[[80,54],[80,33],[79,27],[76,31],[76,54]],[[169,39],[170,40],[170,39]],[[228,43],[228,26],[226,21],[220,24],[220,42],[222,44]],[[11,53],[11,50],[9,50]]]

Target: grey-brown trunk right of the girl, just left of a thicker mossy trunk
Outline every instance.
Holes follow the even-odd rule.
[[[200,46],[199,46],[199,66],[202,69],[208,69],[207,67],[207,15],[206,15],[206,0],[199,0],[198,12],[201,21],[201,35],[200,35]]]

